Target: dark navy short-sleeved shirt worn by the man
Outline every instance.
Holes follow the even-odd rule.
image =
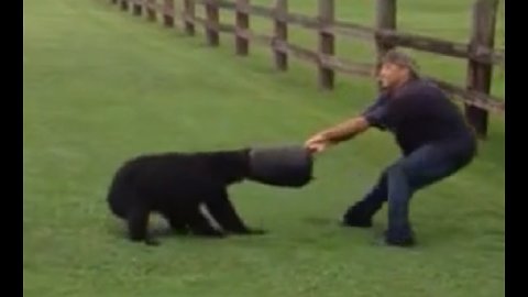
[[[459,108],[442,90],[421,79],[382,94],[363,117],[371,125],[393,132],[404,155],[426,144],[440,142],[455,148],[475,141]]]

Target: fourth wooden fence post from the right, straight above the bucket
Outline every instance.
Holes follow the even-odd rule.
[[[286,22],[286,15],[288,14],[288,1],[276,0],[275,1],[275,36],[274,38],[279,42],[288,41],[288,23]],[[278,70],[285,72],[288,69],[288,53],[280,48],[273,48],[275,55],[275,67]]]

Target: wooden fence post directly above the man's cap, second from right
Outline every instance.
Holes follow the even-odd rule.
[[[377,30],[396,30],[397,16],[396,0],[376,0],[376,29]],[[377,64],[382,57],[393,48],[393,44],[388,44],[383,40],[381,34],[376,34]]]

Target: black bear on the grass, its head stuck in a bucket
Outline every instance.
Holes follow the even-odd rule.
[[[229,185],[249,175],[249,152],[165,153],[133,158],[113,177],[107,198],[110,210],[128,222],[130,240],[152,245],[157,242],[147,232],[151,212],[161,213],[177,233],[264,233],[244,224],[228,195]],[[200,211],[201,205],[222,230],[210,224]]]

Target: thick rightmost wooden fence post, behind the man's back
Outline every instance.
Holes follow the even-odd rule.
[[[470,41],[470,51],[473,53],[477,51],[479,46],[494,47],[497,9],[498,0],[475,1]],[[470,59],[468,65],[468,89],[490,94],[492,73],[492,64],[483,64]],[[477,136],[485,139],[487,135],[487,111],[466,105],[465,117],[469,123],[475,129]]]

